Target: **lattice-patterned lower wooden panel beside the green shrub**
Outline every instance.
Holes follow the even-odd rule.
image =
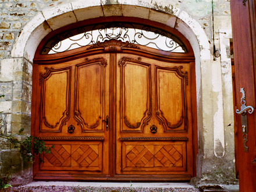
[[[44,155],[42,169],[54,166],[61,170],[101,170],[101,145],[55,144],[51,153]]]

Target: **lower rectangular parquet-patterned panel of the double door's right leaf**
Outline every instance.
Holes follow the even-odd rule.
[[[148,172],[186,170],[184,141],[124,141],[122,170],[148,175]]]

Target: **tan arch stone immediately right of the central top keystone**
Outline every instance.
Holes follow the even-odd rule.
[[[143,6],[122,5],[123,16],[148,19],[150,9]]]

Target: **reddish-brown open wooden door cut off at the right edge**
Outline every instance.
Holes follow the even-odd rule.
[[[232,12],[236,106],[239,110],[242,104],[253,106],[255,109],[256,5],[253,0],[232,0],[230,6]],[[245,99],[243,99],[243,91]],[[256,190],[256,113],[254,111],[250,114],[247,111],[246,115],[247,118],[244,118],[243,115],[236,115],[239,188],[240,191],[253,192]],[[245,120],[247,120],[247,126],[242,129]]]

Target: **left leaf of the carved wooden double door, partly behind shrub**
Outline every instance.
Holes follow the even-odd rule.
[[[35,136],[54,148],[34,166],[34,178],[108,175],[109,54],[35,67]]]

